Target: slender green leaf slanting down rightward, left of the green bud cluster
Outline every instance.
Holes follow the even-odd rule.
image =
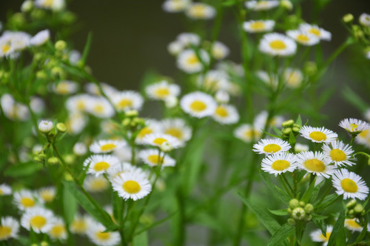
[[[280,229],[280,224],[277,223],[277,221],[275,221],[275,219],[273,219],[273,217],[271,217],[266,210],[250,202],[241,192],[238,192],[238,195],[240,196],[244,204],[247,205],[248,208],[256,214],[258,220],[263,224],[265,228],[267,228],[267,230],[269,230],[271,234],[274,234],[275,232],[277,232],[277,230]]]

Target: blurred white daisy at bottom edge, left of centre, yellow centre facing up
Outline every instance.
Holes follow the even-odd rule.
[[[104,232],[106,227],[97,221],[91,221],[86,235],[95,245],[114,246],[121,241],[119,232]]]

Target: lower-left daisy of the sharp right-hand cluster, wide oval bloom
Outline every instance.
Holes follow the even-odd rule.
[[[261,169],[277,176],[284,172],[293,172],[298,166],[297,161],[297,156],[288,152],[269,154],[262,159]]]

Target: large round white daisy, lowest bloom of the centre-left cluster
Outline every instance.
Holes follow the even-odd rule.
[[[151,191],[151,184],[147,176],[138,172],[120,174],[114,178],[112,187],[124,200],[136,201],[147,196]]]

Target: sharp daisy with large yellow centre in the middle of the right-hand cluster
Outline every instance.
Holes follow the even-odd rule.
[[[335,166],[330,165],[330,161],[322,152],[299,152],[299,168],[304,169],[311,174],[330,178],[335,171]]]

